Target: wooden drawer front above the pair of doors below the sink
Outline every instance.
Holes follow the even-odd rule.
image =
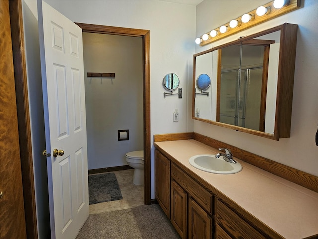
[[[171,165],[171,177],[185,190],[192,198],[200,204],[202,208],[212,214],[211,202],[212,194],[200,186],[194,179],[186,175],[174,164]]]

